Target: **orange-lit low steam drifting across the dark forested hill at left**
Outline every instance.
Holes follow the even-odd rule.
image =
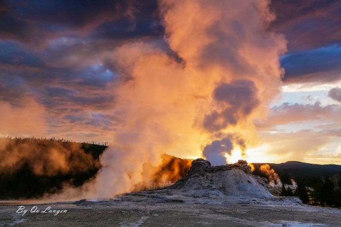
[[[0,174],[27,166],[38,176],[56,176],[99,167],[80,143],[61,143],[47,139],[0,138]]]

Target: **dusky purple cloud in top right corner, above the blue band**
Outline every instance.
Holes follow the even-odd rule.
[[[289,52],[341,44],[341,1],[272,0],[270,29],[288,39]]]

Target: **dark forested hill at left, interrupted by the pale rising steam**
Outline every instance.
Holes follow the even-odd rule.
[[[0,199],[39,198],[65,184],[81,186],[101,168],[99,157],[106,148],[54,138],[0,138]],[[155,168],[155,187],[184,177],[192,162],[167,154],[161,158],[158,167],[145,164]]]

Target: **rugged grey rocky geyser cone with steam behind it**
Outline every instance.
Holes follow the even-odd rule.
[[[209,161],[196,159],[186,177],[168,189],[192,196],[253,198],[272,197],[265,178],[252,175],[251,167],[243,160],[235,164],[212,166]]]

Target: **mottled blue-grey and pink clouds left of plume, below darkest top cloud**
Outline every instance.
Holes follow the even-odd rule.
[[[112,83],[116,75],[104,62],[98,61],[94,50],[83,51],[86,47],[81,43],[79,39],[62,39],[43,51],[32,51],[18,42],[0,41],[3,47],[0,100],[14,110],[17,106],[25,106],[27,98],[33,100],[44,110],[43,114],[37,113],[42,115],[45,124],[45,131],[39,132],[44,137],[109,141],[111,132],[119,124],[117,118],[110,117],[115,102]],[[38,108],[32,110],[38,111]],[[32,110],[28,111],[32,113]],[[66,117],[70,115],[82,121],[70,124],[70,118]],[[37,136],[34,132],[25,135]],[[9,130],[6,134],[18,136],[23,133]]]

